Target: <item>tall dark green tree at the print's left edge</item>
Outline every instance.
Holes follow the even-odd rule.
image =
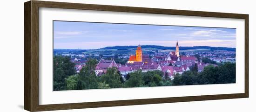
[[[76,73],[74,63],[70,60],[67,56],[54,56],[54,91],[66,90],[65,79]]]

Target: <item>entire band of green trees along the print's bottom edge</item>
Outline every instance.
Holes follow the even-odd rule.
[[[115,67],[108,68],[105,74],[98,77],[95,75],[97,63],[95,59],[88,59],[86,66],[76,73],[70,57],[54,56],[54,91],[236,83],[235,63],[206,66],[202,72],[197,71],[195,64],[190,71],[176,74],[173,80],[162,71],[131,72],[125,80]]]

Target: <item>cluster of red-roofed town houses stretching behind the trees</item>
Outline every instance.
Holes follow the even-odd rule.
[[[154,61],[156,59],[157,61]],[[82,60],[83,61],[83,60]],[[80,64],[81,60],[74,59],[76,63],[76,70],[79,72],[85,64]],[[105,60],[101,61],[95,67],[95,74],[101,76],[107,72],[110,67],[116,67],[122,75],[127,75],[130,72],[135,72],[141,70],[142,72],[159,70],[168,75],[171,79],[174,78],[175,74],[182,74],[185,71],[189,71],[191,66],[195,64],[198,65],[198,72],[202,72],[205,66],[210,64],[204,64],[198,62],[194,56],[179,56],[177,57],[174,53],[170,53],[168,56],[156,56],[150,59],[148,55],[143,55],[142,61],[135,61],[134,63],[127,63],[121,65],[115,62],[115,60]],[[216,65],[214,65],[216,66]]]

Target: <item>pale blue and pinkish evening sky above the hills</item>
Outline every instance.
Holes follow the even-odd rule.
[[[54,21],[54,49],[158,45],[236,47],[236,29]]]

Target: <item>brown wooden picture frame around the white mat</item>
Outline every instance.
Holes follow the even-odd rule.
[[[25,2],[24,12],[24,108],[27,111],[51,111],[64,109],[81,109],[107,106],[123,106],[123,105],[144,105],[171,102],[186,102],[200,100],[215,99],[235,99],[249,97],[249,15],[236,13],[214,13],[201,11],[186,11],[158,8],[143,7],[122,7],[107,5],[92,5],[79,3],[64,3],[51,1],[31,0]],[[188,97],[172,97],[172,98],[156,98],[156,99],[133,99],[133,100],[116,100],[116,101],[100,101],[100,102],[84,102],[71,104],[51,104],[39,105],[39,7],[50,8],[66,8],[81,10],[97,10],[97,11],[114,11],[114,12],[130,12],[130,13],[153,13],[153,14],[170,14],[170,15],[186,15],[186,16],[202,16],[216,18],[232,18],[245,20],[245,84],[244,93],[221,94],[221,95],[203,95]]]

